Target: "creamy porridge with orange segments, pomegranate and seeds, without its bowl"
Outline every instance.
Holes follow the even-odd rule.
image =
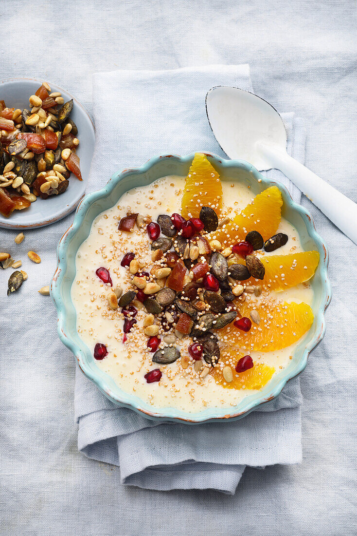
[[[72,299],[97,366],[153,406],[234,406],[287,366],[313,322],[303,251],[274,186],[252,199],[196,154],[100,214]],[[245,207],[242,209],[242,207]]]

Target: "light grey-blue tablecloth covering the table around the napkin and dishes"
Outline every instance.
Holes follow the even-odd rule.
[[[89,109],[96,71],[249,63],[258,94],[305,118],[307,166],[356,200],[354,1],[6,0],[0,14],[2,77],[52,80]],[[302,463],[247,468],[234,496],[124,487],[117,467],[79,454],[74,360],[57,340],[52,304],[36,295],[72,217],[26,234],[18,249],[29,273],[24,300],[3,293],[0,301],[1,533],[355,533],[356,247],[306,198],[302,204],[328,243],[333,287],[326,336],[301,376]],[[13,237],[0,230],[1,249]],[[28,246],[41,247],[48,267],[29,265]]]

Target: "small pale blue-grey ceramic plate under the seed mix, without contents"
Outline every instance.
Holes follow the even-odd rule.
[[[47,81],[47,80],[45,80]],[[33,78],[11,78],[0,83],[0,99],[9,108],[29,108],[28,98],[34,95],[41,86],[42,80]],[[72,173],[67,190],[58,196],[48,199],[37,198],[28,209],[15,210],[9,218],[0,214],[0,227],[9,229],[31,229],[53,224],[64,218],[77,207],[85,195],[88,181],[90,162],[94,153],[95,131],[94,124],[87,111],[70,93],[48,82],[52,91],[60,91],[66,101],[73,99],[71,119],[78,127],[79,146],[77,154],[80,158],[82,181]]]

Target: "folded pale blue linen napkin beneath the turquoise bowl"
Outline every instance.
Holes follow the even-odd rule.
[[[252,91],[248,65],[171,71],[117,71],[93,78],[95,155],[88,190],[120,168],[155,154],[207,150],[224,156],[212,135],[204,97],[214,85]],[[303,161],[301,120],[284,115],[288,151]],[[301,192],[276,170],[295,200]],[[236,422],[189,426],[151,421],[119,408],[81,371],[75,379],[78,447],[86,456],[120,466],[123,483],[147,489],[206,489],[233,494],[246,465],[263,468],[301,460],[301,393],[294,379],[276,400]]]

